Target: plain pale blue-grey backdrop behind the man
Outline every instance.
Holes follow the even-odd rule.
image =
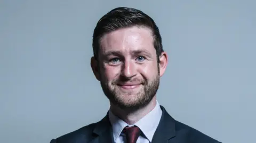
[[[222,142],[255,142],[255,1],[0,1],[0,142],[49,142],[109,103],[90,68],[100,17],[131,6],[158,24],[169,65],[157,98]]]

